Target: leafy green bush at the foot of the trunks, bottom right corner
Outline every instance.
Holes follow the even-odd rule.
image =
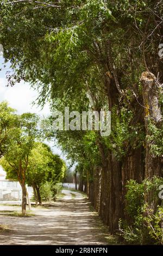
[[[155,212],[145,204],[144,194],[152,192],[152,199],[159,203],[158,187],[163,184],[162,178],[153,177],[138,184],[128,181],[126,194],[127,220],[119,221],[120,235],[128,244],[163,245],[163,208],[158,204]],[[161,200],[160,200],[161,202]]]

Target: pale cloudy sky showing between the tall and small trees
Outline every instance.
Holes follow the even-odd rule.
[[[3,67],[3,57],[0,57],[0,69]],[[9,64],[7,68],[0,70],[0,102],[6,100],[9,106],[17,110],[17,114],[22,114],[26,112],[36,113],[39,115],[44,115],[45,117],[50,114],[50,109],[48,103],[45,107],[41,107],[36,104],[33,105],[32,102],[36,101],[38,93],[36,90],[30,87],[28,83],[21,81],[15,84],[14,87],[7,87],[7,80],[5,78],[5,73],[9,70]],[[62,154],[59,147],[54,145],[54,141],[45,142],[47,143],[54,154],[58,154],[62,159],[66,160],[66,157]]]

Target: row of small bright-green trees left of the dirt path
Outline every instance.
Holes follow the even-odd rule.
[[[60,182],[65,175],[66,165],[58,155],[41,142],[39,117],[36,114],[15,114],[7,102],[0,103],[1,165],[7,178],[18,180],[22,187],[22,214],[26,215],[26,184],[33,187],[36,200],[40,197],[40,185],[46,181]]]

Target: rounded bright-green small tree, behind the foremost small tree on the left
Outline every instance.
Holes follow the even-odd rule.
[[[26,182],[33,187],[35,202],[37,199],[41,205],[40,187],[46,181],[53,186],[60,182],[65,175],[66,164],[58,155],[52,153],[48,145],[35,142],[33,149],[29,155],[29,162],[26,172]]]

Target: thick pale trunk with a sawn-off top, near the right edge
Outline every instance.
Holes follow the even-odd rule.
[[[143,106],[145,108],[145,127],[146,127],[146,157],[145,157],[145,179],[152,179],[153,176],[161,174],[161,157],[155,156],[151,150],[151,145],[154,142],[149,140],[152,135],[150,124],[159,128],[162,123],[161,109],[158,100],[158,82],[156,77],[151,72],[143,72],[140,78],[142,82]],[[145,193],[145,202],[155,211],[157,202],[151,200],[152,192]]]

